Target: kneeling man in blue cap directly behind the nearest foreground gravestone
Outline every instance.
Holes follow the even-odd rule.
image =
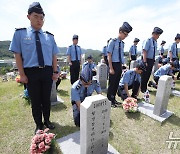
[[[92,84],[92,70],[86,65],[80,74],[80,79],[77,80],[71,88],[71,103],[73,106],[73,118],[76,126],[80,126],[80,104],[87,96],[91,96],[96,90],[98,94],[101,93],[100,86],[96,87]]]

